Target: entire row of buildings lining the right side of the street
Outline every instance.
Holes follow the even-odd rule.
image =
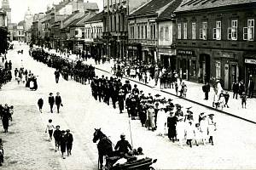
[[[224,88],[256,81],[256,0],[63,0],[26,13],[25,40],[95,57],[163,65]]]

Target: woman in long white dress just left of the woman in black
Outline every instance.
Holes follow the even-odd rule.
[[[164,136],[166,133],[166,122],[167,122],[167,116],[166,111],[164,111],[164,107],[160,107],[160,111],[157,113],[157,119],[156,119],[156,125],[157,125],[157,134],[160,136]]]

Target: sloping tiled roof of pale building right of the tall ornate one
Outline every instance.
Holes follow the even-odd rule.
[[[168,3],[171,3],[172,0],[151,0],[143,7],[135,10],[131,16],[134,15],[144,15],[144,14],[156,14],[161,8],[164,8]]]

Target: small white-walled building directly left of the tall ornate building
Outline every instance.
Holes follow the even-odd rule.
[[[96,14],[84,22],[84,42],[86,54],[102,58],[106,55],[106,48],[103,47],[103,12]]]

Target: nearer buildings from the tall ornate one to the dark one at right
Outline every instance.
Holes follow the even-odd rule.
[[[225,89],[256,82],[255,0],[151,0],[133,11],[132,0],[105,2],[109,56],[164,65],[192,82],[221,79]]]

